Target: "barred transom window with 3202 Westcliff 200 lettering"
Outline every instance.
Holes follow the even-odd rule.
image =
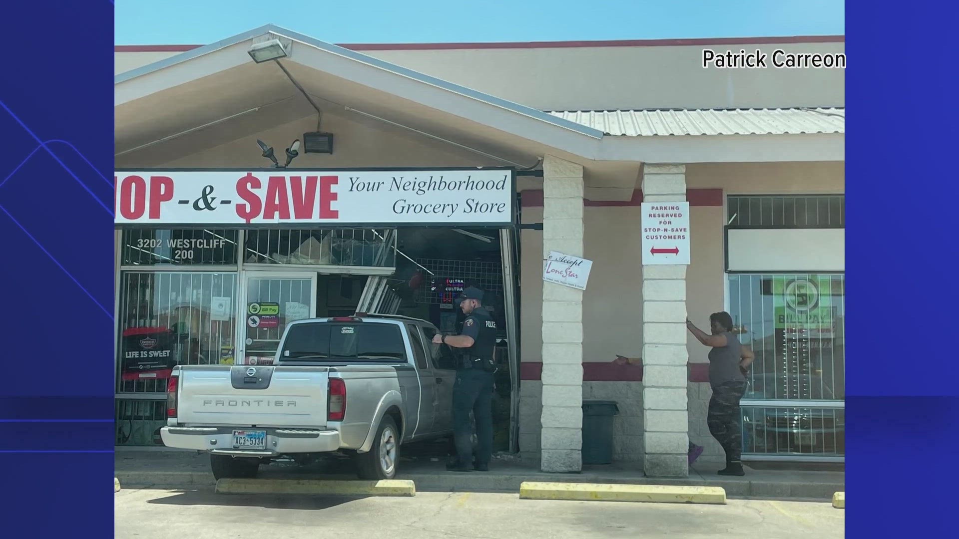
[[[236,230],[124,230],[121,266],[233,266],[240,252]]]

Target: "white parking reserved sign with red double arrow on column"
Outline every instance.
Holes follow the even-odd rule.
[[[690,202],[643,202],[643,266],[690,264]]]

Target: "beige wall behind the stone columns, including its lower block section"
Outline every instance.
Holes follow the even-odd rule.
[[[720,188],[730,194],[838,194],[845,193],[844,163],[733,163],[687,166],[690,189]],[[687,269],[687,310],[700,327],[709,315],[724,309],[722,206],[693,206],[690,210],[691,264]],[[524,223],[541,223],[541,208],[525,208]],[[585,256],[593,271],[583,294],[583,361],[608,362],[617,354],[642,355],[643,288],[640,207],[588,207],[585,210]],[[541,362],[540,310],[542,298],[542,232],[524,230],[521,283],[524,308],[522,361]],[[706,363],[707,349],[689,338],[690,363]],[[522,383],[520,444],[534,457],[538,448],[540,404],[538,381]],[[712,392],[709,384],[690,383],[690,440],[704,445],[703,460],[721,460],[722,451],[706,427]],[[639,382],[585,382],[583,398],[620,403],[614,422],[617,460],[642,459],[643,391]]]

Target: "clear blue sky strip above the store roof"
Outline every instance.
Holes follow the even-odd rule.
[[[846,15],[842,0],[116,0],[114,43],[205,44],[268,23],[333,43],[435,43],[842,35]]]

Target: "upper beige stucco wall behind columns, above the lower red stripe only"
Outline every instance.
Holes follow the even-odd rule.
[[[687,166],[690,189],[719,188],[724,195],[845,193],[845,164],[730,163]],[[723,309],[722,206],[690,210],[691,264],[687,269],[687,310],[702,327],[711,313]],[[542,223],[541,208],[524,208],[524,223]],[[583,361],[613,361],[617,354],[640,356],[643,343],[643,287],[640,261],[640,207],[587,207],[585,256],[593,261],[583,294]],[[540,362],[542,298],[542,232],[524,230],[522,237],[521,331],[524,362]],[[690,337],[690,362],[706,361],[706,350]]]

